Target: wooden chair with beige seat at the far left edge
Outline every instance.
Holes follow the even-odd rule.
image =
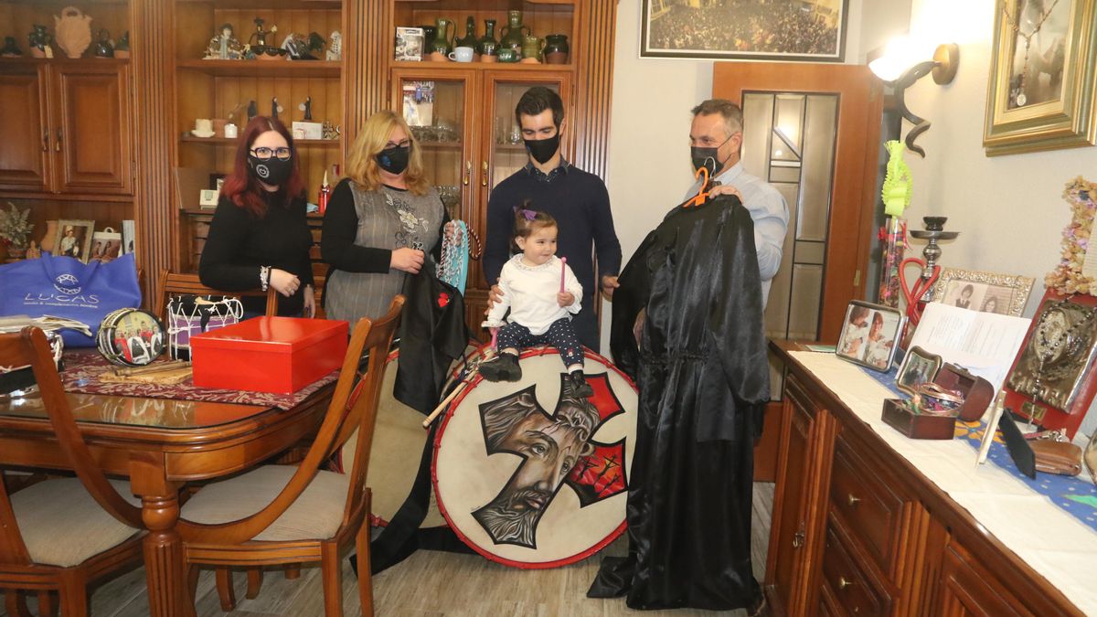
[[[77,478],[46,480],[8,493],[0,481],[0,590],[8,614],[29,615],[16,590],[37,592],[39,613],[88,614],[88,583],[140,560],[139,502],[108,480],[77,428],[53,352],[41,329],[0,335],[0,366],[30,364],[57,442]],[[122,495],[127,495],[123,497]]]

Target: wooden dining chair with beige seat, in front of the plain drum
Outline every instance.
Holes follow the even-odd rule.
[[[217,591],[225,610],[235,607],[228,568],[292,568],[319,561],[325,614],[342,615],[339,556],[353,543],[362,614],[373,614],[365,474],[385,358],[403,307],[404,296],[397,295],[384,317],[361,319],[354,326],[327,415],[298,467],[270,464],[215,482],[183,506],[179,531],[184,558],[192,568],[218,568]],[[363,350],[369,350],[370,361],[365,374],[358,379]],[[351,472],[321,471],[355,430],[358,449]],[[249,597],[258,592],[257,579],[258,570],[249,572]],[[191,580],[195,580],[193,570]]]

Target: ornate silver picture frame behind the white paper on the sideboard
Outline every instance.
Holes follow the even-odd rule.
[[[1034,282],[1019,274],[942,268],[934,285],[934,302],[1020,317]]]

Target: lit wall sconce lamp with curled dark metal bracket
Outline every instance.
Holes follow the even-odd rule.
[[[914,128],[906,134],[906,147],[923,158],[926,157],[926,150],[914,145],[914,141],[918,135],[929,131],[929,121],[906,109],[904,92],[927,75],[932,75],[934,81],[938,85],[951,83],[960,66],[960,46],[955,43],[938,45],[934,52],[934,59],[924,59],[928,55],[925,46],[917,45],[909,38],[900,38],[889,43],[883,55],[869,63],[869,69],[894,88],[895,105],[900,114],[914,124]]]

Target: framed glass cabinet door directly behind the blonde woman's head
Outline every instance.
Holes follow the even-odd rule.
[[[451,77],[452,74],[452,77]],[[473,75],[445,71],[444,78],[416,69],[394,71],[394,106],[402,110],[422,146],[422,162],[451,218],[467,218],[473,199]]]

